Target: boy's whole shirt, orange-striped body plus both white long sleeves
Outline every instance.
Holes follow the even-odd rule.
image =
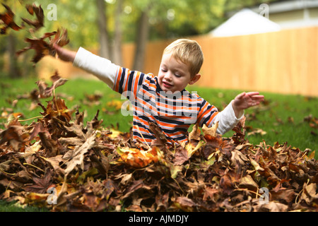
[[[191,124],[211,127],[218,121],[217,132],[230,131],[243,117],[235,117],[232,102],[218,112],[196,93],[182,90],[168,94],[161,90],[158,78],[153,74],[130,71],[108,59],[98,57],[80,47],[73,61],[73,66],[92,73],[114,91],[128,98],[133,108],[134,140],[151,143],[155,136],[151,132],[150,122],[158,125],[168,142],[187,141],[187,130]]]

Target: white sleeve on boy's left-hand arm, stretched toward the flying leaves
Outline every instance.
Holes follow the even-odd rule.
[[[73,66],[92,73],[101,81],[105,82],[110,88],[114,86],[114,80],[119,69],[119,66],[112,64],[110,60],[98,57],[82,47],[80,47],[76,53]]]

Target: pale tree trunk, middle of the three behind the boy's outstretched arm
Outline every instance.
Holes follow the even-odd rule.
[[[114,46],[112,51],[112,61],[114,64],[122,66],[122,26],[120,16],[122,15],[123,0],[117,0],[115,12]]]

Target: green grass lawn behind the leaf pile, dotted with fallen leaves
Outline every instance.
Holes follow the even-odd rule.
[[[8,114],[20,112],[21,119],[31,119],[41,116],[42,109],[37,106],[30,108],[31,91],[37,88],[36,78],[9,80],[2,79],[0,82],[2,96],[0,100],[1,119],[0,128],[8,119]],[[50,85],[51,83],[47,81]],[[242,90],[220,90],[211,88],[199,88],[189,86],[189,92],[196,91],[201,97],[218,107],[220,110],[227,105],[232,98]],[[128,132],[131,128],[132,117],[124,117],[119,107],[125,100],[121,100],[118,93],[110,90],[105,83],[95,80],[71,79],[56,90],[57,95],[65,100],[69,109],[85,112],[86,120],[91,120],[100,110],[99,119],[103,119],[105,128],[117,127],[119,131]],[[265,141],[268,145],[275,142],[285,143],[293,147],[305,150],[318,150],[317,124],[313,119],[318,117],[318,98],[303,97],[301,95],[279,95],[262,93],[266,101],[259,107],[247,109],[247,140],[249,143],[258,145]],[[12,105],[17,100],[16,105]],[[47,100],[50,100],[48,98]],[[47,100],[41,100],[45,105]],[[306,120],[306,119],[312,119]],[[36,119],[33,119],[36,120]],[[30,124],[32,120],[22,123]],[[225,133],[225,137],[232,136],[233,131]],[[318,153],[316,153],[316,158]]]

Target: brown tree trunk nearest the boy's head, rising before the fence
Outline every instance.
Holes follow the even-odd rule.
[[[136,52],[134,58],[135,71],[143,71],[143,64],[146,55],[146,46],[149,36],[148,9],[141,13],[136,35]]]

